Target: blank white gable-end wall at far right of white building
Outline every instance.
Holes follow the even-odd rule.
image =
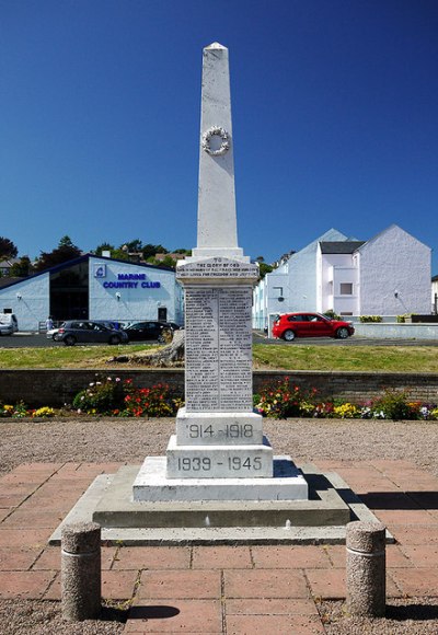
[[[430,249],[397,226],[361,247],[361,315],[430,313]]]

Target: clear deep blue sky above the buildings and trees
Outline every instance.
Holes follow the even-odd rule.
[[[211,42],[245,254],[396,223],[436,258],[436,0],[0,0],[0,235],[195,246]]]

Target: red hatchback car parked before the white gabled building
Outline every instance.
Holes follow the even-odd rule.
[[[321,313],[283,313],[273,325],[276,338],[292,342],[296,337],[339,337],[345,339],[355,332],[350,322],[331,320]]]

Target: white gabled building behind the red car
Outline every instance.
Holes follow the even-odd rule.
[[[367,242],[332,229],[261,280],[254,327],[265,327],[269,315],[302,310],[349,316],[430,313],[430,254],[395,224]]]

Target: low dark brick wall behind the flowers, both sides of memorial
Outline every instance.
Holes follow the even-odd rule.
[[[136,386],[168,383],[173,392],[184,394],[184,369],[157,370],[0,370],[0,401],[16,403],[23,400],[30,406],[71,404],[73,396],[101,377],[132,379]],[[302,388],[315,388],[321,399],[338,397],[359,403],[372,399],[385,389],[405,390],[413,401],[438,403],[438,374],[394,372],[315,372],[256,370],[253,373],[254,392],[273,381],[289,377]]]

